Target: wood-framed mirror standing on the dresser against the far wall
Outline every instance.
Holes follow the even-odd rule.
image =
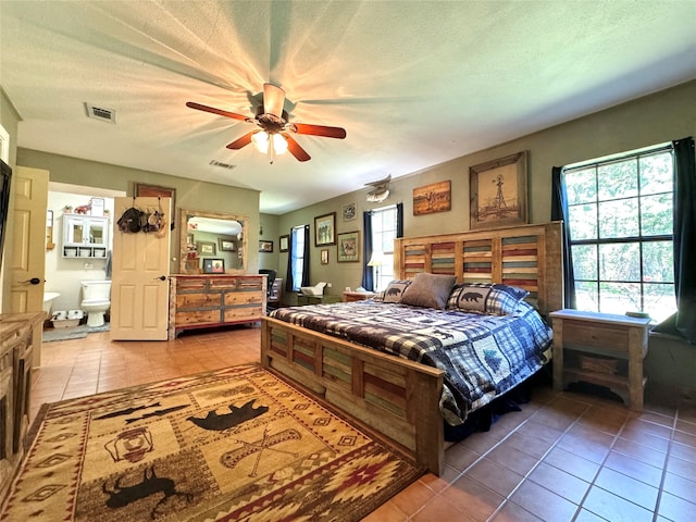
[[[246,215],[182,209],[181,273],[202,274],[214,264],[222,265],[225,274],[243,274],[247,266],[248,223]]]

